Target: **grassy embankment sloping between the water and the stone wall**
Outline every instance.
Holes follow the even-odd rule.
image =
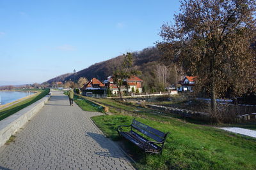
[[[38,93],[36,96],[30,97],[24,101],[21,101],[20,103],[13,104],[10,107],[4,108],[3,110],[0,110],[0,120],[3,120],[6,117],[9,117],[13,113],[16,113],[17,111],[22,110],[23,108],[26,108],[32,103],[35,103],[39,99],[42,99],[45,95],[49,93],[50,89],[45,90],[38,90]]]

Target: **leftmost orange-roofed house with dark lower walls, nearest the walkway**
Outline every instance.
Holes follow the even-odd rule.
[[[106,89],[104,88],[104,84],[97,78],[92,78],[92,80],[84,83],[81,90],[83,96],[106,97]]]

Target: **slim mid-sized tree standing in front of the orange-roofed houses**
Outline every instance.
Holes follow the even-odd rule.
[[[116,84],[118,89],[118,94],[120,99],[122,99],[122,92],[121,88],[125,85],[125,80],[130,78],[131,75],[138,74],[138,71],[134,71],[132,69],[133,65],[133,56],[132,53],[127,52],[126,54],[122,55],[122,57],[118,57],[115,60],[115,71],[113,73],[113,81]]]

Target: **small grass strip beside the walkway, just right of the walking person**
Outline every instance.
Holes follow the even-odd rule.
[[[94,104],[86,99],[83,99],[81,97],[74,97],[74,101],[76,102],[76,104],[85,111],[98,111],[98,112],[102,112],[104,113],[104,110],[102,108],[102,106],[99,106],[97,104]]]

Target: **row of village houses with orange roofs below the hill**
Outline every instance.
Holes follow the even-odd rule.
[[[147,96],[150,92],[143,92],[143,80],[138,78],[138,76],[131,76],[124,80],[125,85],[120,89],[122,94],[129,96]],[[193,86],[195,86],[195,77],[185,76],[184,80],[179,81],[180,87],[175,87],[175,85],[170,85],[166,87],[164,92],[154,92],[150,94],[154,95],[165,95],[165,94],[178,94],[178,92],[193,92]],[[52,88],[59,90],[68,90],[70,87],[65,86],[63,82],[56,81]],[[76,87],[73,87],[76,88]],[[97,78],[92,78],[92,80],[87,81],[83,84],[83,87],[79,88],[79,94],[88,97],[111,97],[118,96],[118,87],[115,85],[112,76],[109,76],[107,80],[103,82]]]

